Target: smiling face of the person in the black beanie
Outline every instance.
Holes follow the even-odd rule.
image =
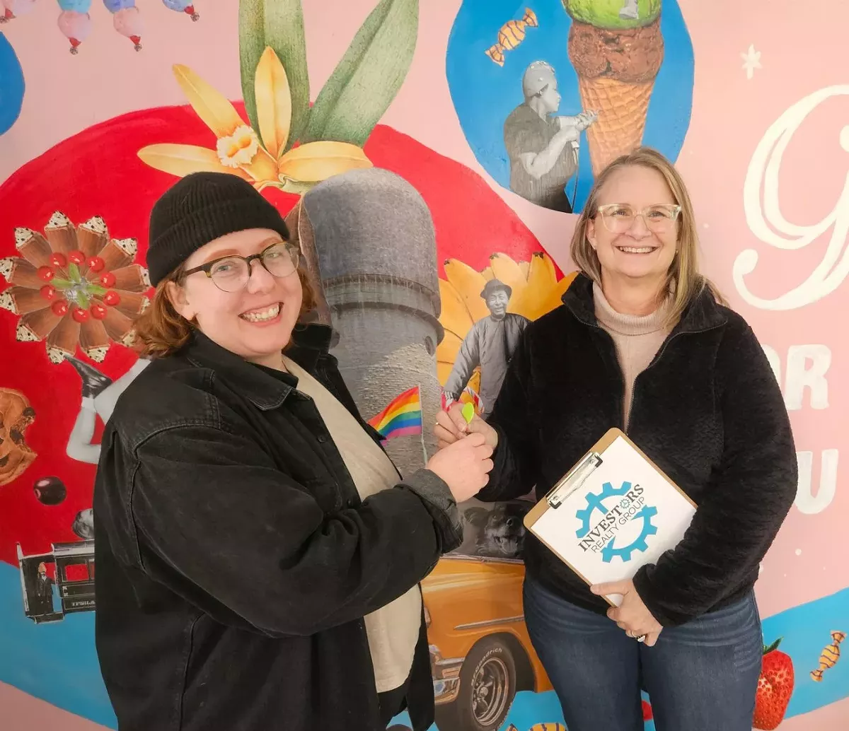
[[[191,270],[226,256],[246,258],[279,241],[278,233],[267,229],[228,233],[195,251],[185,268]],[[235,292],[222,292],[198,271],[186,276],[182,287],[171,283],[169,299],[179,315],[196,321],[200,332],[222,348],[253,363],[280,368],[281,351],[301,314],[301,280],[297,271],[273,276],[259,260],[250,267],[250,279]]]

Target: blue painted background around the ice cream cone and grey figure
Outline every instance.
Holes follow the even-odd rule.
[[[539,27],[525,29],[525,39],[504,52],[498,66],[484,53],[498,41],[508,20],[520,20],[525,8],[536,14]],[[504,148],[503,124],[524,100],[521,78],[528,64],[544,60],[554,66],[562,95],[559,114],[582,111],[577,75],[567,51],[571,18],[560,0],[464,0],[448,38],[446,74],[454,109],[475,158],[503,187],[509,188],[510,166]],[[693,44],[677,0],[664,0],[661,15],[664,61],[655,79],[643,142],[674,162],[689,128],[693,107]],[[582,209],[593,184],[586,134],[582,135],[575,210]],[[573,196],[575,178],[566,193]]]

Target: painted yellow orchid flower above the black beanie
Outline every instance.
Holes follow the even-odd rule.
[[[259,135],[239,116],[221,92],[188,66],[174,65],[174,75],[204,124],[216,136],[214,148],[162,143],[138,151],[156,170],[179,177],[193,172],[226,172],[245,178],[257,189],[277,187],[305,193],[330,176],[372,166],[363,148],[349,142],[307,142],[284,152],[289,142],[292,98],[286,70],[267,47],[256,66],[255,94]]]

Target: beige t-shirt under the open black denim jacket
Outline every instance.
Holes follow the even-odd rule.
[[[395,466],[351,412],[300,365],[285,356],[283,360],[286,369],[298,379],[298,390],[315,402],[360,499],[395,487],[400,480]],[[378,693],[394,690],[407,680],[419,641],[421,611],[421,591],[414,586],[365,617]]]

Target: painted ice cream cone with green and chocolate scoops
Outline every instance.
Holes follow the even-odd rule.
[[[661,0],[562,0],[572,18],[569,59],[582,105],[599,114],[587,131],[593,175],[643,142],[663,62]]]

